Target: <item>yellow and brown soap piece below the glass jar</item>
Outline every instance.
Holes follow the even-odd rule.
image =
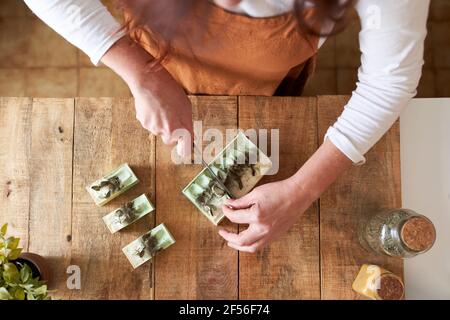
[[[368,264],[361,267],[352,288],[372,300],[400,300],[405,293],[400,277],[379,266]]]

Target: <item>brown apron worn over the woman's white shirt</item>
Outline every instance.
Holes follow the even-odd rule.
[[[184,34],[171,40],[162,60],[189,94],[301,95],[319,39],[302,33],[293,13],[252,18],[204,5],[207,17],[204,8],[195,8],[179,22]],[[131,37],[157,57],[161,45],[152,34],[139,27]]]

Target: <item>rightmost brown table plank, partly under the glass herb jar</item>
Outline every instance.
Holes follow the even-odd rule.
[[[319,97],[319,137],[342,112],[348,97]],[[400,207],[400,133],[396,123],[366,155],[367,163],[354,167],[320,198],[320,247],[323,299],[359,299],[352,282],[364,263],[385,267],[399,275],[401,260],[375,256],[360,247],[360,217],[384,207]]]

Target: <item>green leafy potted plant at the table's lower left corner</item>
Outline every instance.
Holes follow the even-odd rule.
[[[45,259],[23,253],[19,238],[6,237],[8,225],[0,229],[0,300],[50,300],[45,280],[50,272]]]

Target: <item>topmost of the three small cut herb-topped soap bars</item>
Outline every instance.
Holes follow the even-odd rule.
[[[120,194],[129,190],[139,182],[128,164],[122,164],[117,169],[91,183],[86,190],[95,204],[103,206]]]

